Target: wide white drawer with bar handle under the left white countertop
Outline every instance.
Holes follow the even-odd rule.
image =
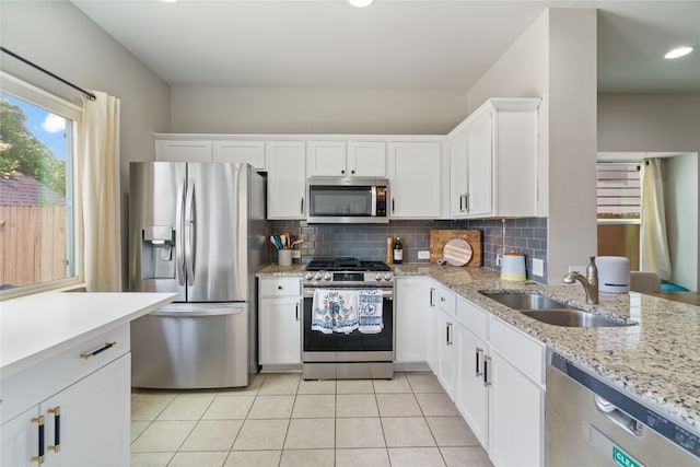
[[[2,378],[1,422],[16,417],[131,350],[129,324],[89,338]],[[112,345],[114,342],[114,345]],[[81,357],[83,355],[83,357]]]

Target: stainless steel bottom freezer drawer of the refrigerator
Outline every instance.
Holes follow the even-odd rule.
[[[133,387],[248,385],[248,304],[171,304],[131,323]]]

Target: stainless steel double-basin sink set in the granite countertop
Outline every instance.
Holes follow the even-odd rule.
[[[521,312],[525,316],[555,326],[565,327],[615,327],[628,326],[594,313],[584,312],[563,302],[539,293],[481,292],[489,299]]]

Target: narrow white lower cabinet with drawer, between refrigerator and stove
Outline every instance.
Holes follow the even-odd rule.
[[[260,278],[258,303],[260,365],[302,363],[302,314],[299,278]]]

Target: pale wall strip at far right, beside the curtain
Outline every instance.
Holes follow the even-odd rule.
[[[689,153],[664,159],[662,166],[672,282],[691,291],[700,290],[698,165],[698,154]]]

